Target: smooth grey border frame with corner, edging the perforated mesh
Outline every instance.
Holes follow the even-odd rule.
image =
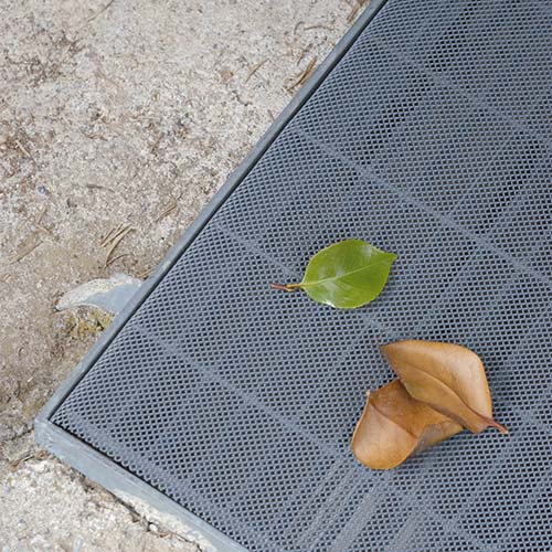
[[[355,23],[340,40],[331,53],[320,64],[305,86],[294,96],[291,102],[282,112],[274,124],[256,144],[240,167],[229,177],[225,184],[203,209],[198,219],[184,232],[182,237],[171,247],[163,261],[157,266],[151,276],[141,285],[136,295],[128,301],[121,312],[115,318],[102,338],[87,352],[76,365],[71,375],[55,392],[52,399],[42,408],[34,422],[38,443],[65,464],[77,469],[86,477],[98,482],[107,490],[119,496],[132,496],[151,505],[163,513],[176,517],[180,522],[190,528],[189,538],[209,541],[211,552],[247,552],[233,539],[203,521],[185,508],[171,500],[169,497],[151,487],[139,477],[130,474],[114,460],[107,458],[92,446],[71,435],[51,422],[51,417],[66,396],[73,391],[81,379],[103,354],[107,346],[117,336],[128,319],[136,312],[149,294],[157,287],[172,265],[185,252],[195,236],[224,203],[229,195],[248,174],[252,168],[265,153],[270,144],[286,127],[294,115],[307,102],[312,93],[320,86],[326,76],[347,53],[360,33],[373,19],[375,13],[385,3],[385,0],[372,0],[370,6],[357,19]]]

